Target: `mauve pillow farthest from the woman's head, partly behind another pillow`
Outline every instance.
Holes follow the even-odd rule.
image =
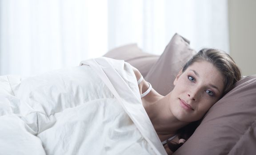
[[[124,60],[140,70],[144,77],[159,58],[158,55],[143,52],[137,44],[128,44],[115,48],[104,54],[104,57]]]

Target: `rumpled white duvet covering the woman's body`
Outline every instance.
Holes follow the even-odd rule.
[[[0,155],[166,155],[131,66],[96,58],[0,77]]]

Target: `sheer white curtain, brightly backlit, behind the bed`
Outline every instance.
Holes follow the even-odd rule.
[[[176,32],[229,50],[227,0],[0,0],[0,75],[77,66],[128,43],[161,54]]]

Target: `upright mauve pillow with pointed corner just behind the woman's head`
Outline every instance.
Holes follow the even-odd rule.
[[[189,46],[189,41],[175,34],[163,54],[148,71],[145,80],[161,95],[167,95],[173,89],[173,81],[184,64],[196,54]]]

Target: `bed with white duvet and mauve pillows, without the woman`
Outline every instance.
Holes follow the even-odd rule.
[[[166,155],[140,104],[131,65],[166,95],[195,53],[175,34],[161,55],[129,44],[76,67],[0,76],[1,154]],[[174,155],[254,154],[255,94],[256,75],[238,81]]]

